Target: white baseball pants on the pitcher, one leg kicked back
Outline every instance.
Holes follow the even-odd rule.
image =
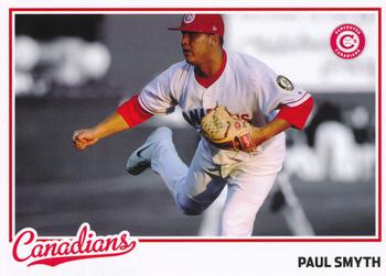
[[[187,167],[171,140],[157,143],[151,168],[164,180],[176,205],[189,216],[202,213],[227,185],[219,235],[250,236],[256,213],[274,186],[285,158],[285,143],[276,143],[248,161],[216,164],[200,142]]]

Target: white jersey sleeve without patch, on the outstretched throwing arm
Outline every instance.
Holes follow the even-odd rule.
[[[143,110],[151,114],[168,114],[174,111],[178,104],[174,80],[178,67],[171,66],[141,90],[138,100]]]

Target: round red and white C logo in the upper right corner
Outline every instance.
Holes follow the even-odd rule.
[[[357,57],[365,47],[365,36],[353,24],[337,26],[331,34],[330,45],[339,57],[351,59]]]

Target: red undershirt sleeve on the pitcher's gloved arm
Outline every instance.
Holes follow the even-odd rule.
[[[283,106],[276,118],[286,120],[292,124],[293,128],[302,130],[304,128],[307,119],[311,113],[312,107],[313,99],[310,97],[297,107],[290,108],[288,106]]]

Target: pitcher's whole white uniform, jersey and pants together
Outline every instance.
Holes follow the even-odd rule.
[[[244,54],[227,54],[215,76],[203,80],[196,78],[194,66],[186,62],[174,64],[143,88],[139,102],[153,114],[172,112],[179,104],[184,119],[200,131],[201,119],[216,106],[225,106],[253,125],[264,126],[281,104],[297,107],[310,98],[286,77]],[[143,144],[133,156],[152,145],[151,168],[165,181],[184,213],[202,213],[226,186],[219,234],[251,235],[256,213],[282,167],[283,132],[253,153],[219,150],[202,139],[189,167],[180,159],[170,130],[158,129],[148,139],[151,140],[157,143]]]

